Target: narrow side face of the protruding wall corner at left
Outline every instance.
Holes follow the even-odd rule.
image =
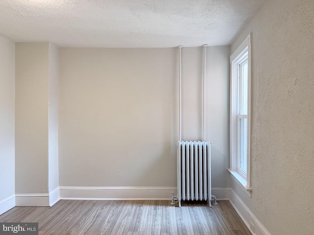
[[[49,44],[49,192],[59,187],[58,167],[58,47]]]

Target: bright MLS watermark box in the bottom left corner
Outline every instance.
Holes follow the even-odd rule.
[[[0,235],[38,235],[38,223],[0,223]]]

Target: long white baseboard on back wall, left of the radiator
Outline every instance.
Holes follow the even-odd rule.
[[[59,187],[60,199],[170,200],[177,187]]]

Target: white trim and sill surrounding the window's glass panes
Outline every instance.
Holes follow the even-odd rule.
[[[237,68],[235,61],[243,55],[243,51],[248,51],[248,107],[247,107],[247,174],[241,174],[237,169]],[[251,34],[241,43],[241,45],[230,56],[230,168],[228,169],[237,183],[251,196]]]

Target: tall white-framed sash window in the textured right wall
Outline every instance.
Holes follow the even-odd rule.
[[[250,188],[251,37],[230,56],[230,169],[247,191]]]

